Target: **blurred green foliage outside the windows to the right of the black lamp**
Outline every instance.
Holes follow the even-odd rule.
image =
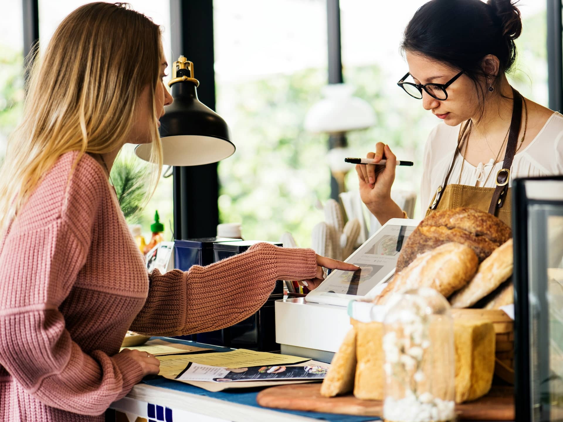
[[[547,93],[545,12],[526,18],[524,29],[517,40],[520,61],[511,80],[524,95],[546,104],[547,97],[546,102],[542,97]],[[529,77],[534,89],[526,82],[528,71],[522,64],[533,66]],[[418,192],[425,170],[424,146],[439,122],[420,101],[396,86],[403,74],[392,79],[384,66],[381,62],[344,69],[346,82],[357,88],[355,95],[372,104],[377,116],[374,127],[347,133],[348,143],[365,155],[377,142],[385,142],[400,158],[413,160],[414,167],[397,169],[394,188]],[[327,136],[306,133],[303,119],[320,97],[326,78],[325,69],[308,69],[258,80],[217,81],[218,113],[229,122],[236,145],[235,155],[219,165],[220,219],[241,222],[245,239],[276,241],[289,231],[300,246],[310,246],[311,229],[324,218],[315,203],[329,197],[329,169]],[[356,190],[357,185],[352,170],[348,190]],[[417,218],[422,217],[419,209],[417,204]]]

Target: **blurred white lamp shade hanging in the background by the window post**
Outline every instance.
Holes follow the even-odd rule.
[[[376,123],[376,116],[367,101],[352,96],[354,87],[329,84],[323,88],[325,98],[307,112],[308,132],[347,132],[366,129]]]

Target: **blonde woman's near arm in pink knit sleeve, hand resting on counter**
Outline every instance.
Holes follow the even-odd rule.
[[[59,307],[86,262],[96,186],[82,184],[77,203],[56,197],[53,184],[30,199],[0,248],[0,365],[45,405],[100,415],[141,380],[142,368],[122,354],[84,353],[66,329]],[[61,201],[68,209],[46,212]]]

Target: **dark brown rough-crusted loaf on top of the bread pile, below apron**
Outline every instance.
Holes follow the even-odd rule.
[[[469,246],[481,262],[510,237],[510,227],[484,211],[440,210],[423,219],[405,241],[397,258],[396,272],[402,271],[417,255],[449,242]]]

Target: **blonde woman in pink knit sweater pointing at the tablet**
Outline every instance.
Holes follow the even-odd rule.
[[[159,370],[147,353],[119,353],[128,329],[220,329],[256,312],[276,279],[314,287],[321,266],[356,269],[258,244],[188,272],[146,272],[108,178],[126,142],[151,142],[160,176],[163,57],[150,19],[91,3],[35,60],[0,170],[0,421],[102,421]]]

